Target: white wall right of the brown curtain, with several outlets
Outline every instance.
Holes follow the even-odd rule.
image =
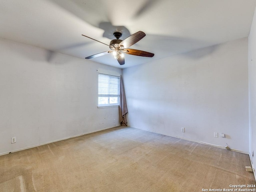
[[[247,63],[243,38],[124,69],[129,126],[248,152]]]

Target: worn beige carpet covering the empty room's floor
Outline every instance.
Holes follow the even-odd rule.
[[[256,184],[245,166],[247,154],[118,127],[0,156],[0,191],[223,190]]]

